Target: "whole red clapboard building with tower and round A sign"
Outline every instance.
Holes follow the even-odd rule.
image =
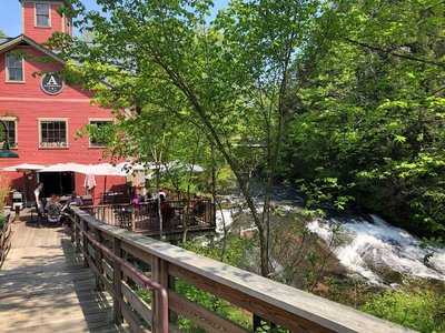
[[[42,46],[53,32],[72,33],[71,20],[58,10],[63,1],[20,2],[22,34],[0,39],[0,119],[8,124],[9,141],[19,159],[0,159],[0,169],[20,163],[103,162],[100,142],[78,138],[77,132],[87,124],[112,121],[110,110],[92,105],[88,91],[65,84],[58,74],[63,61]],[[46,195],[85,193],[82,174],[1,173],[11,188],[28,188],[24,192],[30,198],[38,181],[44,183]],[[123,182],[122,178],[108,178],[107,190]],[[106,190],[103,186],[105,181],[97,176],[97,198]]]

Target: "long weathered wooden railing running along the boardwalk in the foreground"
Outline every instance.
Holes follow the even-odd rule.
[[[407,332],[354,309],[210,260],[72,209],[72,242],[132,332]],[[188,292],[187,292],[188,291]],[[194,295],[211,302],[196,302]],[[207,303],[207,304],[206,304]],[[234,322],[221,309],[238,311]],[[168,309],[168,313],[167,312]],[[261,320],[258,320],[261,319]],[[266,331],[257,331],[258,322]],[[190,329],[191,327],[191,329]]]

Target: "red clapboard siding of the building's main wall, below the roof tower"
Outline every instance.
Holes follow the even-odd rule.
[[[0,117],[18,119],[19,159],[0,159],[0,168],[20,163],[55,164],[77,162],[97,164],[102,161],[102,150],[89,148],[88,138],[77,138],[77,132],[89,123],[89,119],[110,119],[109,110],[90,103],[90,94],[78,88],[66,85],[58,95],[46,94],[40,88],[41,71],[60,70],[59,63],[42,63],[42,56],[30,47],[21,50],[31,56],[24,61],[24,83],[6,82],[4,53],[0,53]],[[39,148],[39,118],[63,118],[68,122],[68,143],[66,149]],[[11,180],[11,185],[23,190],[21,173],[2,172]],[[83,194],[83,175],[76,176],[76,190]],[[95,194],[103,192],[103,178],[97,178]],[[107,189],[125,183],[123,178],[108,178]]]

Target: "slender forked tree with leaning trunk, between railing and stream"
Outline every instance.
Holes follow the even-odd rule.
[[[234,1],[209,24],[211,2],[205,0],[98,3],[102,13],[85,12],[80,21],[93,31],[95,44],[76,41],[66,49],[82,63],[75,67],[82,82],[102,105],[136,105],[135,119],[181,121],[202,133],[238,181],[258,228],[261,274],[268,275],[270,191],[287,124],[289,73],[317,1]],[[162,132],[155,127],[154,133]],[[264,157],[257,165],[267,189],[263,212],[243,169],[250,143]]]

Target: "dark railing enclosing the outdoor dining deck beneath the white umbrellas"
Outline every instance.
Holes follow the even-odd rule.
[[[156,200],[140,204],[101,204],[82,206],[93,218],[130,231],[157,234],[160,232],[159,208]],[[215,205],[210,200],[165,201],[160,206],[162,232],[188,230],[215,230]]]

